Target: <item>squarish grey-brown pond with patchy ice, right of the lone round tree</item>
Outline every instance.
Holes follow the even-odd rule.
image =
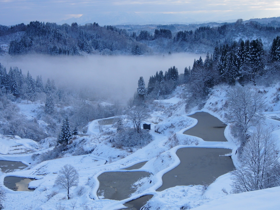
[[[104,172],[97,177],[99,181],[97,196],[103,196],[103,198],[111,200],[129,198],[130,194],[136,192],[137,188],[142,184],[137,185],[137,187],[132,185],[138,180],[150,177],[151,175],[151,173],[146,171]]]

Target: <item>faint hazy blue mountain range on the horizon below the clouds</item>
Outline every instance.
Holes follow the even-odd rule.
[[[223,20],[223,21],[206,21],[206,22],[235,22],[236,20]],[[84,14],[79,18],[70,18],[57,22],[58,24],[67,23],[71,25],[76,22],[80,25],[86,23],[97,22],[99,25],[147,25],[147,24],[190,24],[190,23],[206,23],[199,22],[193,18],[188,18],[183,14],[170,14],[170,13],[135,13],[135,12],[110,12],[107,14]]]

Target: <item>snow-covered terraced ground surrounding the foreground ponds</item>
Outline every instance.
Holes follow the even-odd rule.
[[[227,88],[226,86],[219,86],[214,89],[201,111],[208,112],[221,121],[226,122],[223,107],[225,106]],[[260,88],[260,91],[262,91],[267,98],[267,111],[269,112],[264,113],[268,117],[266,119],[266,126],[273,129],[273,134],[277,137],[277,143],[279,144],[280,121],[273,118],[270,119],[279,114],[279,112],[275,112],[278,109],[277,107],[280,107],[278,101],[275,100],[277,90],[274,88],[266,88],[264,91]],[[182,207],[197,207],[199,210],[214,208],[236,209],[238,202],[243,203],[243,205],[238,204],[239,209],[248,209],[251,207],[260,209],[259,207],[261,206],[269,207],[269,209],[278,209],[279,202],[276,196],[278,196],[280,192],[279,187],[230,195],[230,184],[232,180],[230,179],[231,175],[229,173],[217,177],[207,189],[201,185],[190,185],[176,186],[163,190],[162,192],[156,192],[156,189],[162,184],[163,174],[180,164],[180,160],[176,155],[176,151],[179,148],[211,147],[232,149],[233,152],[230,155],[232,155],[234,164],[238,164],[235,155],[237,148],[236,140],[230,133],[230,126],[227,126],[224,132],[228,142],[206,142],[201,138],[183,134],[185,130],[196,125],[197,120],[188,117],[188,115],[198,110],[193,108],[192,113],[185,113],[184,100],[180,99],[179,96],[181,92],[182,88],[179,87],[177,92],[174,93],[175,96],[173,98],[154,102],[157,104],[157,110],[152,112],[150,119],[147,119],[147,123],[152,122],[150,133],[154,140],[142,148],[117,149],[111,147],[111,143],[107,140],[107,137],[110,132],[115,132],[115,128],[111,128],[111,125],[104,125],[105,132],[100,134],[97,121],[93,121],[89,123],[88,126],[88,134],[90,134],[90,136],[85,138],[84,141],[81,141],[83,137],[74,140],[78,142],[81,141],[83,147],[93,147],[95,145],[91,154],[44,161],[21,171],[7,174],[2,173],[0,177],[2,184],[3,178],[7,175],[39,179],[29,183],[30,187],[37,188],[34,192],[14,192],[6,189],[8,196],[4,203],[5,209],[20,209],[25,206],[27,209],[30,207],[32,209],[48,210],[55,209],[57,203],[61,203],[66,209],[73,209],[71,207],[71,202],[76,202],[75,209],[113,210],[122,208],[123,203],[146,194],[154,195],[149,202],[152,205],[150,208],[151,210],[182,209]],[[159,133],[154,132],[155,130]],[[172,136],[174,134],[176,134],[178,141],[172,142]],[[3,142],[0,139],[0,144],[4,144]],[[20,143],[17,144],[20,145]],[[10,145],[15,146],[12,144]],[[25,147],[30,148],[31,146],[28,145],[30,144],[26,142]],[[90,151],[91,148],[87,149]],[[8,149],[4,148],[3,152],[6,151],[8,151]],[[24,158],[26,155],[29,157],[27,163],[30,163],[29,161],[32,162],[32,153],[6,156],[9,156],[9,160],[21,160],[21,158]],[[3,158],[6,156],[0,155],[0,158],[5,160]],[[98,175],[104,171],[124,171],[121,169],[142,161],[148,162],[141,169],[136,169],[134,171],[142,170],[151,172],[154,175],[151,183],[144,183],[141,189],[137,190],[137,193],[132,194],[130,198],[122,201],[99,199],[97,197]],[[65,198],[66,190],[59,190],[57,186],[54,186],[57,173],[60,167],[65,164],[72,164],[79,173],[79,186],[70,189],[70,200]],[[248,207],[245,205],[245,202],[253,203],[254,200],[257,201],[255,201],[252,206]]]

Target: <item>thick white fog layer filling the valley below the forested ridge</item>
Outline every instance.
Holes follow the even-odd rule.
[[[0,63],[7,68],[18,67],[23,74],[27,71],[33,78],[42,75],[54,79],[57,87],[78,90],[93,90],[96,97],[91,100],[119,101],[126,104],[137,90],[140,76],[146,87],[150,76],[156,71],[167,71],[176,66],[178,72],[193,65],[194,59],[205,55],[181,53],[166,56],[99,56],[52,57],[47,55],[24,55],[0,57]]]

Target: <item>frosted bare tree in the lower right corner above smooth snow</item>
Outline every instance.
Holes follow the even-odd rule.
[[[250,136],[241,154],[242,167],[232,172],[234,192],[261,190],[280,185],[275,139],[263,128]]]

